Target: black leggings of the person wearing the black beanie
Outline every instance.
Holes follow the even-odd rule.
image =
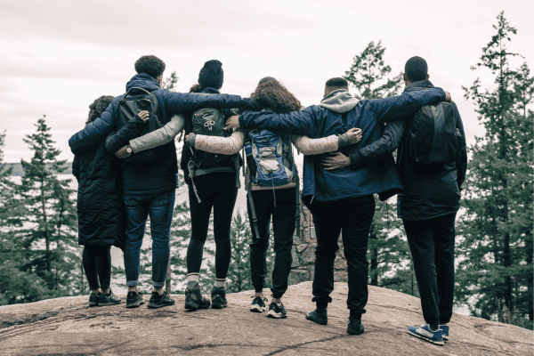
[[[215,278],[225,279],[231,259],[231,216],[238,198],[237,174],[212,173],[195,177],[198,202],[192,186],[189,188],[191,239],[187,248],[187,272],[198,273],[202,265],[204,244],[212,207],[214,209]]]

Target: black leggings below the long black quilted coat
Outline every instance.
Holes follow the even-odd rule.
[[[91,290],[109,288],[111,279],[111,247],[86,246],[84,247],[84,270]],[[100,284],[99,284],[100,279]]]

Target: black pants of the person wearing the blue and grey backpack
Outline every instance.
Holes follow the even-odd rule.
[[[267,274],[266,254],[269,247],[269,225],[272,215],[274,239],[274,268],[272,270],[271,292],[274,298],[281,298],[287,291],[287,277],[291,271],[291,248],[295,232],[296,191],[295,188],[280,190],[252,190],[255,214],[258,219],[256,236],[252,224],[252,212],[247,199],[248,218],[251,222],[252,243],[250,244],[250,272],[252,285],[261,292]],[[276,203],[276,204],[275,204]],[[276,207],[275,207],[276,206]]]

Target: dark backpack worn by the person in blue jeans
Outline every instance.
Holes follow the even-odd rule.
[[[119,102],[117,116],[118,128],[120,129],[126,125],[128,121],[133,119],[142,110],[149,111],[150,118],[143,126],[142,132],[138,137],[158,130],[162,126],[159,120],[161,113],[158,98],[154,93],[139,87],[133,87],[128,90]],[[162,156],[161,146],[158,146],[150,150],[142,150],[141,152],[134,153],[130,157],[125,158],[125,162],[132,165],[146,165],[157,161]]]

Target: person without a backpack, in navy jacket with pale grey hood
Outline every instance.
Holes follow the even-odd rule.
[[[378,140],[382,124],[413,115],[417,109],[433,102],[450,101],[449,93],[440,88],[426,92],[402,93],[400,96],[358,101],[348,92],[343,78],[329,79],[320,105],[313,105],[290,114],[247,112],[231,117],[227,125],[233,128],[261,127],[290,134],[307,134],[311,138],[343,134],[349,128],[360,127],[360,142],[340,149],[348,155]],[[320,155],[319,155],[320,156]],[[320,166],[320,157],[304,156],[303,202],[310,207],[317,234],[316,260],[313,276],[313,299],[317,309],[306,319],[328,323],[329,296],[334,290],[334,261],[339,249],[337,239],[343,233],[344,255],[348,264],[350,317],[347,333],[361,334],[361,315],[368,301],[368,231],[375,213],[373,194],[392,194],[400,190],[401,180],[392,155],[377,160],[374,165],[357,169],[347,167],[334,171]]]

